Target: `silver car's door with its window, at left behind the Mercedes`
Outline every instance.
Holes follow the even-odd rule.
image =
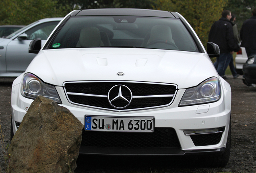
[[[60,21],[45,22],[28,29],[25,40],[18,37],[9,42],[6,48],[7,72],[24,72],[36,54],[29,53],[29,43],[36,38],[42,39],[42,45]],[[23,34],[24,34],[23,33]]]

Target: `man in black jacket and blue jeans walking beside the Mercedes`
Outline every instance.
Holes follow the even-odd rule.
[[[238,51],[238,45],[235,44],[235,38],[233,34],[233,26],[230,21],[231,12],[224,10],[222,17],[216,21],[210,30],[208,42],[213,42],[219,46],[220,56],[217,57],[217,61],[214,63],[218,74],[227,79],[225,75],[225,63],[229,54],[233,54],[234,50]]]

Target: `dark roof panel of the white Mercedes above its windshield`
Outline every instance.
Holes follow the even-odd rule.
[[[167,18],[179,18],[177,13],[160,11],[160,10],[148,10],[148,9],[135,9],[135,8],[101,8],[101,9],[89,9],[89,10],[77,10],[74,11],[71,16],[152,16],[152,17],[167,17]]]

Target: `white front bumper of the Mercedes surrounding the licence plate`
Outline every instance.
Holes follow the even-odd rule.
[[[19,80],[21,79],[17,78],[12,86],[12,125],[14,127],[14,133],[17,131],[16,122],[22,121],[29,106],[33,102],[33,100],[24,98],[21,95]],[[224,84],[224,80],[222,82],[225,88],[227,84]],[[64,89],[62,87],[56,87],[56,89],[63,103],[61,106],[69,109],[83,124],[85,122],[85,115],[155,117],[155,129],[173,129],[174,135],[177,138],[175,145],[163,147],[161,145],[151,147],[147,144],[146,147],[103,147],[101,145],[90,146],[90,140],[85,135],[83,137],[80,153],[93,155],[190,155],[224,152],[230,121],[231,91],[223,89],[223,87],[221,99],[215,103],[178,107],[185,92],[184,89],[180,89],[177,92],[174,102],[168,107],[121,113],[72,105],[67,101]],[[195,145],[190,135],[185,135],[184,133],[184,130],[207,130],[220,127],[225,127],[225,130],[219,136],[217,143]],[[124,138],[126,137],[124,136]],[[167,137],[160,137],[159,141],[162,141],[164,138],[168,138],[168,134]],[[169,138],[172,139],[173,136]],[[155,139],[149,140],[154,141]],[[105,142],[107,143],[108,141],[115,143],[112,137],[106,138]],[[83,142],[86,144],[83,145]],[[169,141],[167,141],[167,143],[169,143]]]

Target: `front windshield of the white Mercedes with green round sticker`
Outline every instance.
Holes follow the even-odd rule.
[[[74,16],[64,24],[50,49],[131,47],[198,52],[190,33],[175,18]]]

